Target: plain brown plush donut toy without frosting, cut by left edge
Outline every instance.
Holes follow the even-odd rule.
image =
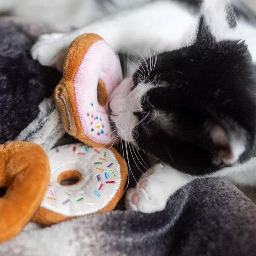
[[[0,242],[16,235],[31,219],[49,184],[48,157],[29,142],[0,145]]]

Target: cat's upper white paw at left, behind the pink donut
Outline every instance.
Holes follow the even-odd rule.
[[[63,33],[43,34],[31,49],[31,56],[43,66],[52,66],[59,71],[70,44],[70,39]]]

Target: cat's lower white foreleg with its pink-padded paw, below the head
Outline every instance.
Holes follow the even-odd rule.
[[[137,187],[128,191],[126,208],[144,213],[162,210],[168,198],[194,178],[167,164],[154,165],[140,177]]]

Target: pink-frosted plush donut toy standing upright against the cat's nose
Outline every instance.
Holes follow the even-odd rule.
[[[55,102],[65,130],[90,146],[114,142],[107,106],[122,80],[116,52],[97,34],[83,34],[70,45]]]

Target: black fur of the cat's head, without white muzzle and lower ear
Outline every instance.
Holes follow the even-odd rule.
[[[135,73],[133,80],[155,85],[135,113],[145,118],[133,130],[140,148],[189,174],[219,170],[213,156],[223,145],[212,142],[210,123],[227,134],[245,130],[239,162],[255,155],[256,67],[244,42],[216,42],[202,17],[191,46],[160,54],[149,75]]]

